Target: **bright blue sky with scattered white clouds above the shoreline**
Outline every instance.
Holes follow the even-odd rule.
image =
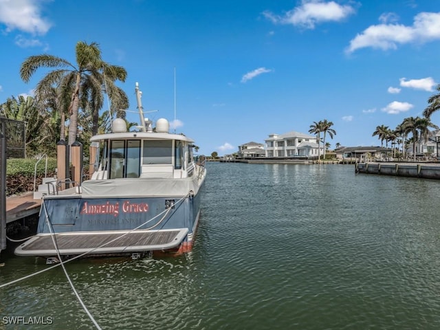
[[[74,63],[78,41],[125,67],[131,111],[139,82],[148,116],[207,155],[324,119],[332,147],[380,145],[375,127],[421,115],[440,83],[439,0],[0,0],[0,102],[47,73],[23,83],[25,58]]]

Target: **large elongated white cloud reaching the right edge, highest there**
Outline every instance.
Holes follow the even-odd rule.
[[[440,39],[440,12],[421,12],[411,26],[401,24],[371,25],[350,41],[347,53],[364,47],[395,50],[405,43],[426,43]]]

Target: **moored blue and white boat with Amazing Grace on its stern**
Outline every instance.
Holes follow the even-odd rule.
[[[72,257],[179,255],[192,250],[206,178],[203,156],[194,141],[170,133],[168,120],[144,118],[127,131],[116,118],[112,132],[91,137],[96,148],[94,173],[61,190],[61,182],[43,196],[35,236],[14,251],[19,256],[67,260]],[[58,260],[59,261],[59,260]]]

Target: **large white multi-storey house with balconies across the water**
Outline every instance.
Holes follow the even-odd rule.
[[[296,131],[284,134],[270,134],[265,140],[266,157],[308,157],[318,158],[318,142],[314,135]],[[324,148],[320,146],[320,155]]]

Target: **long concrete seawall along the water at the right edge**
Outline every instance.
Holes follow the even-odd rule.
[[[389,162],[357,163],[355,164],[355,173],[440,179],[440,164]]]

